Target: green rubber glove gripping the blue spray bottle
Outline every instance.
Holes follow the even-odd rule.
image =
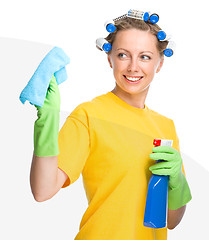
[[[169,146],[158,146],[152,149],[149,157],[153,160],[164,160],[152,165],[149,170],[156,175],[169,175],[168,208],[176,210],[188,203],[192,196],[187,180],[182,172],[180,153]]]

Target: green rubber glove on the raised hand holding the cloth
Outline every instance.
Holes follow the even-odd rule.
[[[53,75],[49,83],[44,105],[37,108],[38,119],[34,124],[34,154],[38,157],[56,156],[59,154],[59,112],[60,93]]]

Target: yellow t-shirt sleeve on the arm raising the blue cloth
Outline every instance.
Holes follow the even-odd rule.
[[[82,108],[77,107],[68,116],[59,132],[58,144],[58,168],[69,177],[64,188],[79,178],[90,152],[88,116]]]

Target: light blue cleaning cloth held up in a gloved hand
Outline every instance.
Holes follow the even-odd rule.
[[[65,65],[69,62],[69,57],[61,48],[52,48],[22,90],[19,97],[20,101],[24,104],[28,100],[32,105],[42,107],[53,74],[58,85],[63,83],[67,80]]]

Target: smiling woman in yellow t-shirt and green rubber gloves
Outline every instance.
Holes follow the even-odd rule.
[[[178,225],[191,200],[174,123],[145,105],[168,42],[157,39],[157,24],[126,17],[115,25],[106,38],[115,88],[77,106],[59,136],[60,96],[52,77],[44,106],[37,107],[31,189],[37,201],[45,201],[82,172],[89,206],[76,240],[163,240],[167,228],[143,226],[152,172],[169,175],[169,229]],[[173,148],[153,149],[154,138],[172,139]],[[157,159],[166,161],[154,164]]]

